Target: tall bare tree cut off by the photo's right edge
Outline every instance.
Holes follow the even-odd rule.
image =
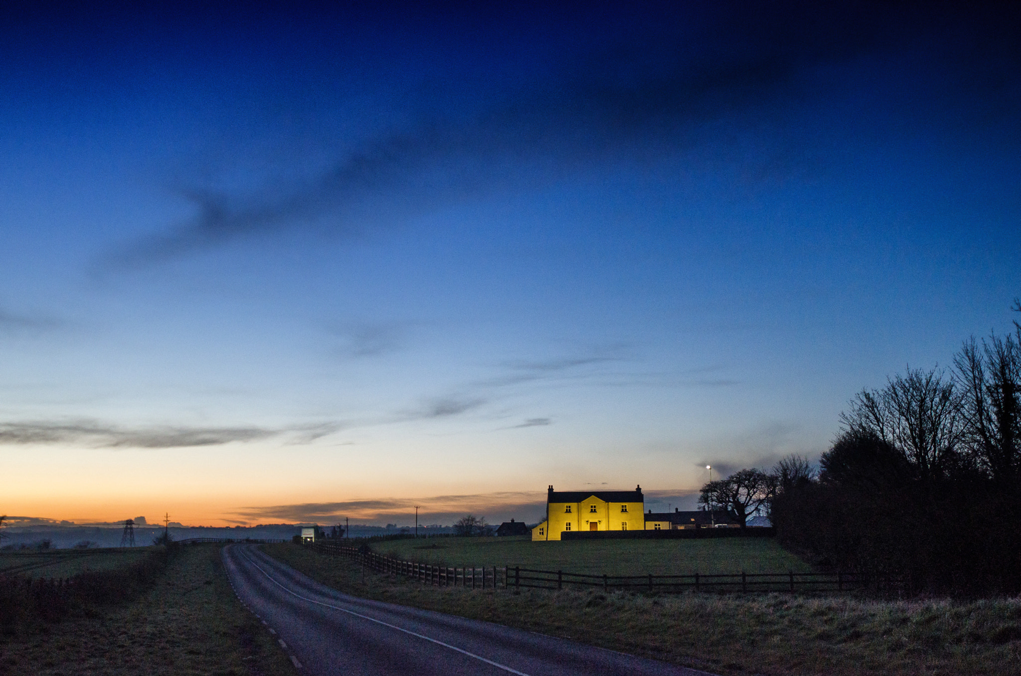
[[[954,356],[969,446],[1005,486],[1017,478],[1021,461],[1021,327],[1018,334],[1018,340],[993,335],[981,346],[971,338]]]

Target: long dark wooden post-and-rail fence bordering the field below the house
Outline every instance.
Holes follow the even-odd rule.
[[[486,568],[446,567],[399,561],[374,553],[367,546],[350,547],[331,542],[305,546],[321,553],[356,561],[366,568],[389,575],[402,575],[426,584],[499,589],[563,589],[601,587],[603,590],[679,592],[694,591],[845,591],[863,585],[860,576],[846,573],[733,573],[721,575],[588,575],[565,571],[541,571],[520,566]]]

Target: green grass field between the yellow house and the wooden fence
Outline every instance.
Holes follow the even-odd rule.
[[[773,538],[697,540],[569,540],[443,537],[373,544],[377,553],[437,566],[521,566],[598,575],[808,573],[811,567]]]

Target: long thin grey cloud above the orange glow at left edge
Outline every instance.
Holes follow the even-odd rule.
[[[99,448],[175,448],[255,441],[280,432],[256,427],[124,428],[95,421],[0,423],[0,444],[79,443]]]

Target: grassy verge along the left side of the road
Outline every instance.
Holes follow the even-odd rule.
[[[185,547],[133,600],[0,636],[0,674],[296,674],[234,595],[217,545]]]

